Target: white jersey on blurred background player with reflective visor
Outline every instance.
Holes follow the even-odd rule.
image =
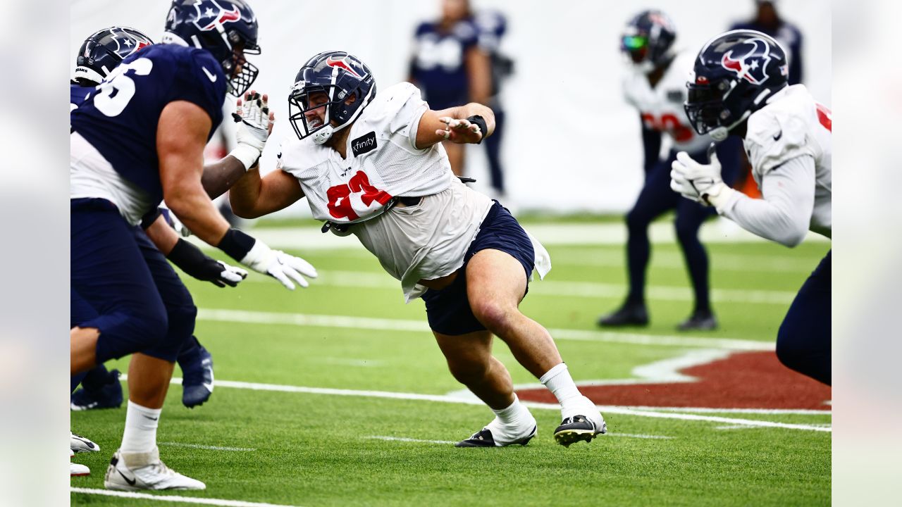
[[[694,61],[695,53],[677,53],[655,88],[646,74],[636,69],[628,69],[623,81],[623,96],[639,109],[645,128],[667,134],[671,148],[679,152],[699,152],[711,143],[710,135],[695,133],[683,107],[686,79]]]

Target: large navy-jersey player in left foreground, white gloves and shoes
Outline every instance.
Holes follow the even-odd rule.
[[[70,331],[70,373],[132,354],[124,435],[104,481],[126,491],[206,488],[165,466],[156,446],[175,359],[193,329],[172,328],[154,276],[168,263],[141,248],[134,226],[165,198],[198,238],[286,288],[316,276],[303,259],[229,228],[202,183],[226,91],[241,97],[258,72],[244,56],[259,52],[253,11],[243,0],[175,0],[163,42],[126,57],[70,114],[72,306],[96,312]],[[256,163],[267,113],[257,100],[238,110],[238,144],[219,173]]]

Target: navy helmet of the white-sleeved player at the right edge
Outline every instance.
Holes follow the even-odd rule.
[[[686,116],[698,134],[723,141],[733,127],[787,86],[786,51],[769,35],[733,30],[708,41],[686,87]]]

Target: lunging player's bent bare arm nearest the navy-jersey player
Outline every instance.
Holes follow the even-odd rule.
[[[281,170],[260,177],[260,171],[247,171],[229,192],[232,212],[242,218],[269,215],[304,197],[299,181]]]

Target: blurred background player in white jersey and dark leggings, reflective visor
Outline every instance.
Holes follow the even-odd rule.
[[[623,95],[640,112],[642,146],[645,151],[645,182],[636,204],[626,216],[627,272],[630,290],[619,309],[598,320],[602,327],[646,326],[649,312],[645,303],[645,276],[651,256],[649,225],[667,211],[674,210],[676,239],[686,259],[695,305],[679,326],[680,330],[717,327],[708,288],[708,254],[698,239],[698,229],[713,212],[670,191],[670,162],[676,152],[688,152],[698,161],[706,160],[705,148],[711,136],[695,134],[686,122],[686,75],[695,54],[675,51],[676,30],[660,11],[636,14],[621,36],[621,51],[627,61]],[[662,141],[667,143],[663,152]],[[724,180],[732,182],[739,171],[739,143],[720,147]]]

